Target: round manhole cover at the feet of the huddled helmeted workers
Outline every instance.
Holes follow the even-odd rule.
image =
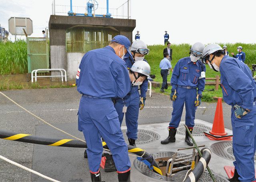
[[[126,131],[127,129],[122,129],[122,132],[124,134],[124,140],[126,141],[126,143],[129,143],[128,137],[126,135]],[[152,143],[159,139],[160,139],[160,136],[153,131],[138,129],[138,139],[136,140],[136,144]]]

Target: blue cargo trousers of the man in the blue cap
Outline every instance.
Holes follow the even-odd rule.
[[[118,172],[129,170],[128,147],[110,98],[82,96],[78,110],[78,130],[82,130],[87,144],[90,172],[98,172],[104,139],[110,149]]]

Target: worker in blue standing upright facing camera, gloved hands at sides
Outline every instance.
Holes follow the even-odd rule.
[[[175,65],[171,84],[172,119],[169,123],[169,135],[161,144],[175,142],[177,127],[180,123],[184,102],[186,106],[186,125],[190,133],[193,131],[196,108],[201,104],[205,84],[205,65],[199,60],[204,50],[204,44],[197,42],[190,48],[190,57],[184,57]],[[190,136],[186,131],[185,142],[192,146]]]

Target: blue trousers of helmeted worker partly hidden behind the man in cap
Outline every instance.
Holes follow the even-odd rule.
[[[130,139],[136,140],[138,133],[138,116],[139,116],[139,104],[140,104],[140,94],[138,89],[136,92],[128,94],[124,99],[115,100],[115,108],[118,113],[118,119],[120,126],[124,119],[123,107],[127,106],[127,111],[125,113],[125,122],[127,127],[126,135]]]

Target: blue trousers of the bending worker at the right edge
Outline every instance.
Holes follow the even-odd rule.
[[[241,119],[231,112],[233,130],[233,162],[240,181],[254,181],[254,153],[256,150],[256,106]]]

